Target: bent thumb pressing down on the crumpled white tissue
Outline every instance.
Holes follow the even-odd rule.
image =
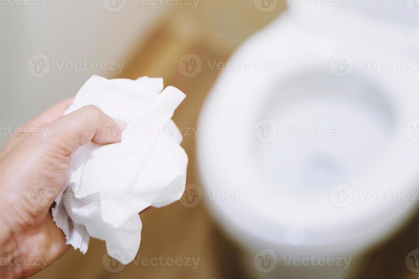
[[[126,125],[124,121],[103,113],[100,108],[87,105],[48,124],[47,128],[66,155],[70,155],[89,141],[98,144],[121,141]]]

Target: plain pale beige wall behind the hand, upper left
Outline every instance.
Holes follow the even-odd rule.
[[[59,70],[56,60],[59,64],[85,59],[122,64],[135,52],[132,46],[138,45],[171,8],[124,0],[121,11],[111,12],[103,5],[110,0],[43,1],[46,5],[41,0],[35,2],[40,6],[1,2],[0,127],[18,127],[59,100],[75,95],[92,74],[115,76],[115,71],[95,71],[94,67]],[[38,53],[50,59],[51,67],[44,77],[34,77],[26,68],[28,59]],[[1,147],[7,138],[0,135]]]

